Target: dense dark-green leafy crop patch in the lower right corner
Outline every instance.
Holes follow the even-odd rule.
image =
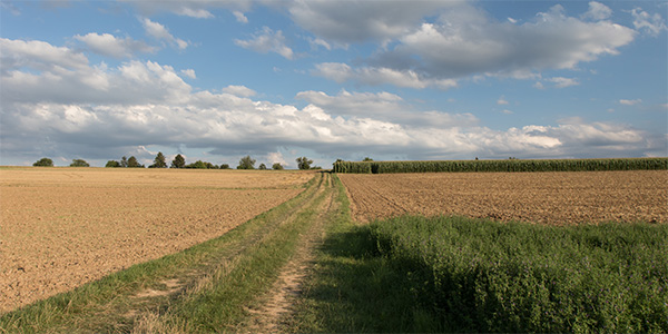
[[[371,226],[440,331],[668,332],[668,226],[460,217]]]

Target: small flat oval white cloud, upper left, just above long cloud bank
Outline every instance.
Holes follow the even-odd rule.
[[[88,47],[91,51],[109,56],[114,58],[131,58],[136,52],[155,52],[154,47],[148,46],[144,41],[135,40],[130,37],[117,38],[110,33],[90,32],[85,36],[75,36]]]

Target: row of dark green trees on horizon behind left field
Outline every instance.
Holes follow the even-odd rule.
[[[250,158],[249,155],[245,156],[239,160],[239,164],[236,169],[259,169],[259,170],[269,169],[267,167],[267,165],[265,165],[265,164],[259,164],[259,166],[257,168],[255,168],[256,161],[257,160]],[[322,167],[320,167],[320,166],[312,166],[313,160],[311,160],[306,157],[299,157],[296,159],[296,161],[297,161],[297,167],[303,170],[304,169],[322,169]],[[32,166],[53,167],[53,160],[51,160],[49,158],[41,158],[41,159],[37,160],[35,164],[32,164]],[[86,163],[86,160],[82,160],[82,159],[72,159],[72,164],[70,164],[70,167],[90,167],[90,165],[88,163]],[[146,166],[140,164],[135,156],[130,156],[129,158],[124,156],[120,160],[109,160],[109,161],[107,161],[107,165],[105,165],[105,167],[107,167],[107,168],[146,168]],[[176,155],[174,160],[171,160],[171,165],[167,166],[167,159],[166,159],[165,155],[163,155],[161,151],[159,151],[157,154],[156,158],[154,159],[154,163],[148,166],[148,168],[167,168],[167,167],[169,167],[169,168],[194,168],[194,169],[232,169],[228,164],[214,165],[212,163],[203,161],[203,160],[197,160],[195,163],[186,165],[186,158],[184,158],[184,156],[180,154]],[[279,163],[275,163],[272,165],[271,169],[283,170],[284,167]]]

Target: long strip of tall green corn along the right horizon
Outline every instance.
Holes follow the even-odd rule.
[[[343,161],[334,173],[431,173],[431,171],[584,171],[668,169],[668,158],[558,159],[558,160],[442,160],[442,161]]]

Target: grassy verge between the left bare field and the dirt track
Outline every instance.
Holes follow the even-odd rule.
[[[321,184],[322,177],[314,177],[295,198],[218,238],[6,313],[0,317],[0,333],[129,332],[135,325],[134,320],[124,314],[138,307],[137,298],[132,297],[135,294],[147,287],[159,286],[167,278],[187,279],[193,273],[220,276],[220,264],[227,264],[227,268],[234,267],[242,262],[239,258],[257,252],[257,244],[282,229],[283,223],[315,196]],[[141,304],[141,308],[164,310],[166,304],[173,302],[156,298]]]

